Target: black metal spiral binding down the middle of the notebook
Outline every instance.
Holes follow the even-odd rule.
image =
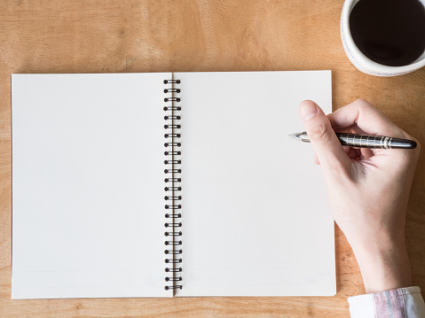
[[[179,129],[181,128],[178,120],[181,120],[181,116],[178,114],[182,110],[180,106],[177,106],[177,103],[180,103],[181,99],[177,96],[181,92],[181,89],[176,86],[180,84],[180,80],[164,80],[164,84],[171,84],[170,88],[164,89],[164,93],[172,93],[171,97],[165,97],[164,102],[170,103],[170,105],[164,106],[164,112],[167,114],[164,116],[164,120],[166,120],[166,124],[164,128],[166,129],[166,133],[164,137],[168,140],[164,143],[165,151],[164,154],[167,159],[164,160],[164,164],[168,166],[164,169],[164,174],[166,175],[164,182],[167,183],[164,188],[166,192],[166,196],[164,200],[166,201],[165,210],[169,213],[165,213],[165,218],[167,221],[164,226],[166,228],[165,237],[167,240],[165,241],[165,245],[167,249],[165,250],[165,254],[167,258],[165,259],[165,263],[168,264],[168,267],[165,268],[165,272],[169,275],[165,277],[165,282],[172,282],[171,285],[166,284],[165,290],[181,290],[182,284],[176,283],[181,282],[182,278],[182,268],[178,267],[178,264],[182,263],[181,255],[183,253],[180,248],[182,245],[182,241],[177,239],[177,237],[182,236],[182,222],[179,221],[181,219],[182,214],[179,213],[182,206],[179,202],[182,199],[182,196],[178,194],[182,190],[177,183],[182,182],[182,179],[179,177],[182,173],[182,169],[178,167],[181,165],[182,160],[177,157],[181,156],[181,151],[178,148],[181,147],[181,143],[179,142],[180,133]]]

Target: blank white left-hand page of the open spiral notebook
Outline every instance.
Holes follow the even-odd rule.
[[[12,75],[12,299],[172,296],[169,76]]]

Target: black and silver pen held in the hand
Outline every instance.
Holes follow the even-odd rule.
[[[386,136],[369,136],[347,133],[335,133],[343,146],[357,148],[381,148],[381,149],[413,149],[416,148],[416,142],[408,139],[393,138]],[[295,133],[290,137],[301,140],[304,143],[310,143],[309,136],[303,133]]]

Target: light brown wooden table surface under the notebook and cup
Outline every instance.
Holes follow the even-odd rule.
[[[3,0],[0,2],[0,317],[348,317],[364,292],[336,229],[337,295],[323,298],[11,300],[11,74],[319,70],[334,110],[364,97],[425,145],[425,68],[378,78],[342,50],[342,0]],[[408,206],[413,283],[425,291],[425,154]]]

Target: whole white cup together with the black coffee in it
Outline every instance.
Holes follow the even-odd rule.
[[[344,50],[354,66],[381,76],[425,65],[425,0],[347,0],[342,9]]]

